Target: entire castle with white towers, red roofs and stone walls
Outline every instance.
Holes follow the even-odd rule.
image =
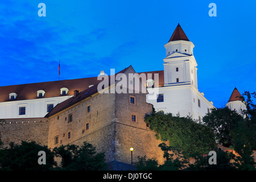
[[[190,115],[199,123],[214,108],[197,88],[194,45],[180,24],[164,47],[163,71],[136,73],[130,65],[112,75],[114,79],[101,71],[97,77],[1,86],[0,133],[4,144],[34,140],[54,148],[86,141],[98,152],[105,152],[106,162],[130,163],[132,147],[134,159],[147,155],[163,163],[158,147],[162,142],[144,122],[152,106],[180,117]],[[100,86],[104,92],[99,92],[102,80],[108,81],[104,88]],[[125,84],[121,85],[121,80]],[[135,88],[135,83],[141,86]],[[133,92],[111,92],[117,86]],[[239,94],[235,89],[227,106],[244,108]]]

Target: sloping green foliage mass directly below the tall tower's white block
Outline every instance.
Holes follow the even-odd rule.
[[[147,115],[145,122],[162,141],[168,140],[170,146],[183,150],[186,158],[195,152],[203,155],[216,146],[212,129],[195,123],[191,118],[174,117],[159,111]]]

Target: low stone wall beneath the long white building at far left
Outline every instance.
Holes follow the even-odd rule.
[[[16,118],[5,119],[1,122],[0,133],[4,147],[8,147],[10,142],[21,143],[35,141],[40,145],[47,146],[48,118]]]

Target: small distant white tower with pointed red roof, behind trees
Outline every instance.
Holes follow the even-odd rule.
[[[243,110],[246,110],[246,105],[242,102],[241,94],[237,88],[234,88],[226,106],[229,107],[230,110],[236,110],[237,113],[240,114],[242,114]]]

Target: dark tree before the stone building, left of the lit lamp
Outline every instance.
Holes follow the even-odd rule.
[[[53,148],[55,155],[61,158],[62,170],[96,171],[106,169],[105,154],[97,153],[92,144],[84,142],[82,146],[68,144]]]

